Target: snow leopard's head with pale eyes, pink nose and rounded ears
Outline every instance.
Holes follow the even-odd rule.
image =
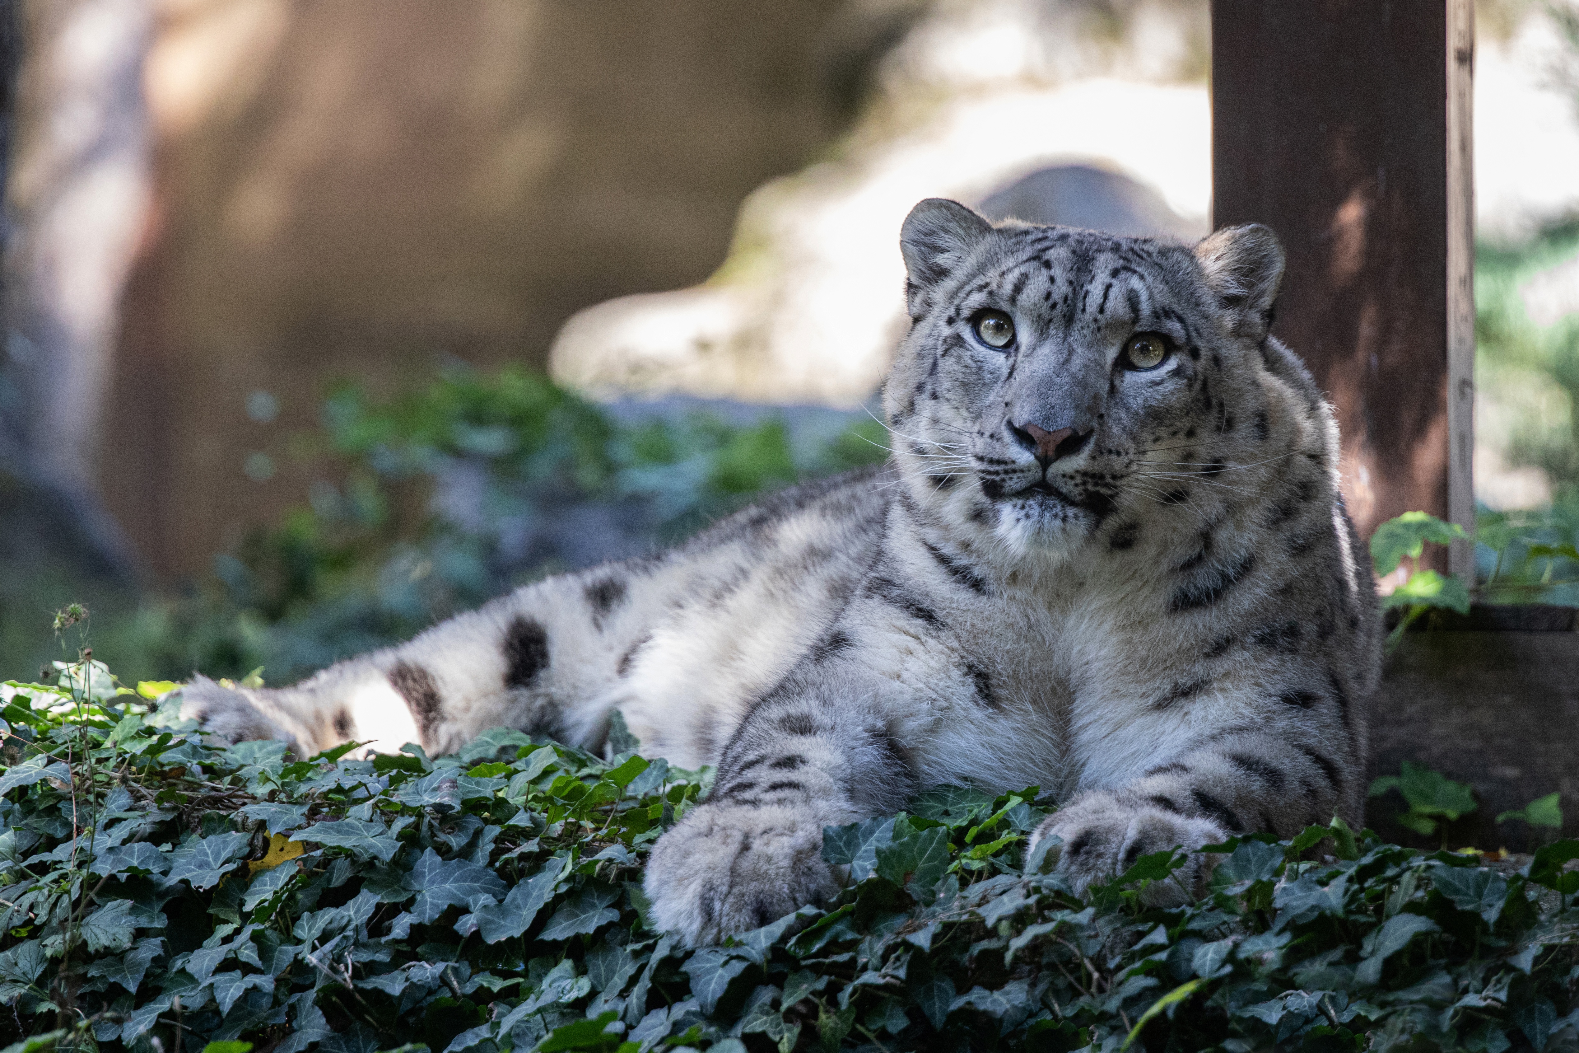
[[[1282,275],[1265,227],[1191,249],[992,226],[922,202],[902,238],[914,320],[884,407],[900,464],[1015,551],[1069,549],[1186,505],[1255,456],[1260,344]]]

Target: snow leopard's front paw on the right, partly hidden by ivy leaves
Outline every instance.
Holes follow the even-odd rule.
[[[1085,895],[1093,884],[1112,881],[1142,856],[1170,848],[1189,851],[1189,860],[1168,881],[1146,887],[1142,900],[1148,906],[1175,906],[1205,895],[1221,857],[1194,849],[1228,837],[1211,819],[1124,804],[1105,794],[1091,794],[1050,815],[1031,835],[1026,859],[1048,835],[1061,843],[1047,846],[1042,868],[1056,868],[1077,895]]]

